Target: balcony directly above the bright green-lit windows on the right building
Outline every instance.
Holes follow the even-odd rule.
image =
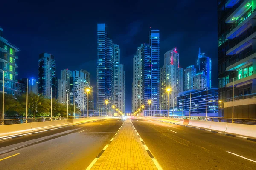
[[[244,54],[243,57],[245,58],[241,59],[240,61],[234,60],[233,63],[231,63],[232,65],[226,68],[226,71],[235,71],[236,69],[244,65],[250,64],[251,62],[253,62],[253,59],[256,59],[256,51],[249,51]]]

